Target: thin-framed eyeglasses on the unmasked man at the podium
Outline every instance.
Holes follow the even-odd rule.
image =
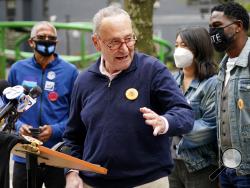
[[[100,38],[100,36],[98,36]],[[100,38],[101,39],[101,38]],[[102,41],[110,50],[117,50],[119,49],[123,43],[126,44],[128,48],[131,48],[135,45],[136,43],[136,36],[131,35],[123,39],[124,41],[121,41],[120,39],[112,39],[110,41]]]

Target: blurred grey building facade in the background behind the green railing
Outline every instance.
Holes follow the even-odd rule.
[[[0,0],[0,21],[91,22],[93,15],[111,2],[123,0]],[[208,27],[210,8],[216,0],[157,0],[154,8],[154,34],[174,44],[178,29],[187,26]],[[94,50],[91,37],[88,48]],[[79,33],[59,31],[58,51],[79,54]]]

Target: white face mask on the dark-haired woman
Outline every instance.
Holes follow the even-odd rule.
[[[174,51],[174,61],[177,68],[189,67],[193,63],[193,53],[186,49],[177,47]]]

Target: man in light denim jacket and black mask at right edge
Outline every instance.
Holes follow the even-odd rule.
[[[241,154],[236,168],[220,173],[220,187],[250,187],[250,39],[249,13],[228,2],[211,9],[209,33],[213,46],[226,55],[220,63],[216,86],[219,160],[230,148]],[[237,162],[237,158],[232,163]]]

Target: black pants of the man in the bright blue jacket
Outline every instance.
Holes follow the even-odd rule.
[[[36,182],[37,188],[41,188],[43,183],[46,188],[64,188],[64,169],[51,166],[38,167]],[[26,164],[14,163],[13,188],[27,188]]]

